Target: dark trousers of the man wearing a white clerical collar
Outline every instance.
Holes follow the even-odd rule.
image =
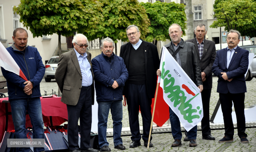
[[[143,134],[142,139],[148,141],[151,125],[151,103],[148,98],[146,84],[128,84],[129,95],[126,97],[129,113],[129,124],[132,133],[131,140],[140,141],[139,132],[139,108],[142,116]],[[152,140],[152,136],[150,141]]]

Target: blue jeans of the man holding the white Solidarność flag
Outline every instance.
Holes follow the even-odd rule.
[[[171,123],[173,139],[181,140],[182,134],[181,134],[180,119],[172,111],[172,109],[170,107],[169,107],[169,112],[170,112],[170,123]],[[197,125],[187,132],[187,137],[188,137],[188,140],[191,140],[191,139],[196,140],[197,139]]]

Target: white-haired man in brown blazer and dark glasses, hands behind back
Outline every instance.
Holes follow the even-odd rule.
[[[68,141],[72,152],[80,152],[78,119],[80,118],[81,152],[98,151],[90,144],[92,105],[94,104],[94,75],[91,53],[86,51],[87,38],[76,34],[74,49],[60,55],[55,80],[62,93],[61,101],[68,109]]]

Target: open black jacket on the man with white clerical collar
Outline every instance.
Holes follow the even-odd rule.
[[[160,66],[159,55],[157,51],[157,46],[143,41],[144,58],[145,58],[145,68],[146,68],[146,86],[147,93],[149,98],[155,97],[156,87],[157,87],[157,69]],[[120,57],[123,58],[124,64],[129,72],[129,61],[130,61],[130,52],[131,52],[132,44],[128,42],[121,46],[120,49]],[[125,82],[123,95],[128,96],[128,81]]]

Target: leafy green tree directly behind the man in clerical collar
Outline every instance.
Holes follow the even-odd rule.
[[[109,37],[115,41],[117,53],[117,40],[127,41],[126,28],[137,25],[141,32],[140,38],[144,39],[149,32],[149,19],[144,7],[137,0],[100,0],[104,5],[103,23],[97,28],[87,31],[92,39]]]

